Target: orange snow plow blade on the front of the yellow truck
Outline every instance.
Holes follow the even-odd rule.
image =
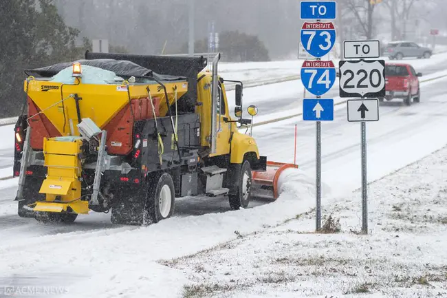
[[[265,172],[252,171],[252,198],[275,201],[279,197],[279,176],[285,169],[298,169],[297,164],[267,162]]]

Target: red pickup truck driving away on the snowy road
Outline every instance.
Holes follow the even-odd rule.
[[[386,96],[380,101],[402,98],[406,105],[411,105],[411,100],[419,103],[421,90],[419,89],[420,72],[416,72],[413,66],[405,63],[386,63],[385,82]]]

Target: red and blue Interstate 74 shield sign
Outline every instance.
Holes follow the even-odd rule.
[[[304,61],[301,82],[315,96],[326,94],[336,81],[336,69],[332,61]]]

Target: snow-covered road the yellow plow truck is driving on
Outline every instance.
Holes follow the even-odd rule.
[[[444,61],[417,71],[433,74],[446,69]],[[247,105],[253,102],[251,92],[263,95],[256,103],[267,115],[299,105],[302,91],[296,82],[281,83],[247,89],[244,99]],[[419,104],[391,102],[380,107],[380,121],[367,125],[370,181],[447,144],[446,94],[447,78],[439,78],[422,84]],[[348,123],[345,108],[339,108],[334,122],[323,123],[323,194],[328,196],[324,204],[332,202],[334,194],[360,187],[360,125]],[[17,181],[0,181],[0,284],[2,277],[61,276],[69,287],[69,296],[63,297],[177,297],[186,282],[182,272],[155,261],[211,248],[235,239],[235,231],[261,231],[314,206],[314,123],[286,120],[257,127],[254,136],[269,160],[292,162],[295,124],[301,170],[292,175],[280,200],[257,202],[257,208],[247,210],[221,213],[229,210],[227,202],[206,198],[181,200],[176,217],[143,228],[111,226],[104,214],[80,216],[72,226],[46,226],[17,217],[17,204],[12,202]],[[5,134],[9,138],[10,132]],[[4,142],[1,145],[10,141]],[[0,157],[5,154],[3,162],[10,160],[10,151],[0,152]]]

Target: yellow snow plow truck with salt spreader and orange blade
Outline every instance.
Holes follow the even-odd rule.
[[[276,199],[279,174],[296,166],[267,162],[239,132],[252,125],[243,85],[230,81],[232,118],[219,59],[210,72],[203,56],[86,52],[25,70],[28,111],[14,128],[19,215],[71,223],[111,211],[115,224],[151,224],[171,217],[179,197],[227,197],[232,209],[246,208],[254,189]]]

